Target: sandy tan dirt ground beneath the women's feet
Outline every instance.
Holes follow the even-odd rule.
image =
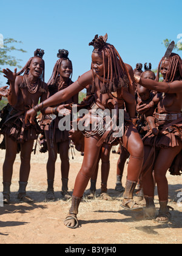
[[[0,152],[0,168],[4,161],[4,151]],[[76,174],[81,167],[83,157],[75,152],[70,160],[69,191],[72,193]],[[71,157],[70,157],[71,158]],[[115,191],[116,162],[118,155],[110,158],[109,194],[112,200],[103,201],[99,197],[100,168],[96,193],[98,197],[89,201],[84,199],[79,207],[78,229],[68,229],[63,224],[70,201],[61,198],[60,161],[56,162],[55,202],[45,202],[47,189],[46,162],[47,153],[32,155],[27,193],[35,199],[33,204],[18,201],[19,155],[16,158],[11,187],[11,204],[0,207],[0,243],[1,244],[181,244],[182,242],[182,204],[177,204],[182,192],[181,177],[169,178],[169,205],[174,207],[172,219],[168,224],[153,221],[134,221],[136,213],[130,213],[120,207],[122,194]],[[124,171],[123,184],[126,181]],[[2,175],[0,177],[2,191]],[[88,189],[89,187],[87,187]],[[158,197],[155,196],[158,205]]]

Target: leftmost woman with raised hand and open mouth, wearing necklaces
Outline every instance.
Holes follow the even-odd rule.
[[[44,51],[37,49],[18,74],[10,69],[3,69],[4,76],[10,82],[9,104],[1,111],[1,133],[5,136],[5,160],[3,165],[4,203],[10,203],[10,185],[12,182],[13,163],[15,162],[18,143],[21,144],[21,166],[19,170],[18,199],[32,202],[26,195],[30,174],[30,157],[34,140],[41,129],[38,123],[25,124],[25,113],[47,98],[47,84],[44,83]]]

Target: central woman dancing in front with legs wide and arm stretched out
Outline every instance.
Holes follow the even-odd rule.
[[[92,52],[92,69],[84,73],[70,87],[59,91],[51,98],[43,102],[43,107],[58,104],[70,99],[73,95],[83,90],[87,85],[92,84],[92,93],[95,94],[95,103],[90,106],[90,113],[104,110],[106,108],[126,109],[129,115],[126,115],[125,130],[123,135],[123,144],[126,146],[131,157],[128,165],[126,190],[124,192],[123,207],[129,210],[138,210],[138,205],[133,202],[133,190],[136,187],[138,177],[140,176],[143,165],[143,143],[135,126],[135,89],[133,88],[133,69],[129,65],[125,65],[120,55],[112,44],[106,43],[107,35],[104,37],[95,36],[89,45],[93,45]],[[113,93],[113,95],[112,95]],[[37,105],[34,109],[27,112],[26,120],[30,119],[33,123],[33,118],[36,111],[42,108],[42,105]],[[58,109],[59,110],[59,109]],[[93,114],[94,115],[94,114]],[[101,115],[102,116],[102,115]],[[129,117],[130,116],[130,117]],[[86,120],[84,116],[84,120]],[[98,120],[106,119],[96,116]],[[130,119],[131,118],[131,119]],[[95,120],[95,118],[94,118]],[[87,121],[87,120],[86,120]],[[133,121],[133,123],[132,123]],[[106,127],[106,126],[104,126]],[[83,197],[84,191],[90,180],[90,177],[95,171],[101,146],[108,137],[112,137],[112,132],[107,135],[108,130],[103,129],[103,135],[99,133],[98,126],[95,130],[86,131],[84,140],[84,159],[81,170],[75,180],[75,188],[72,197],[72,207],[64,224],[70,228],[78,227],[78,207]],[[110,138],[112,140],[112,138]]]

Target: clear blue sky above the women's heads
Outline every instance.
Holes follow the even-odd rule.
[[[0,0],[0,7],[0,34],[22,41],[17,47],[27,51],[12,53],[22,59],[21,66],[36,48],[44,49],[45,82],[52,74],[58,49],[69,51],[73,81],[88,71],[93,50],[89,42],[96,34],[107,33],[108,43],[133,68],[138,62],[151,62],[157,68],[166,51],[163,40],[177,43],[177,35],[182,34],[181,0]],[[182,51],[178,53],[182,55]]]

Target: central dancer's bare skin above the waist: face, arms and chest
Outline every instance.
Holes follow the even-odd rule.
[[[95,74],[95,84],[96,84],[96,91],[95,91],[95,101],[96,103],[101,103],[101,105],[99,105],[99,107],[101,108],[107,108],[107,101],[109,99],[113,99],[113,96],[110,93],[107,94],[100,94],[100,89],[101,89],[101,82],[99,82],[98,77],[96,77],[96,74],[99,74],[99,76],[103,77],[104,74],[104,68],[103,68],[103,58],[100,57],[98,54],[96,53],[92,53],[92,65],[93,65],[93,72]],[[107,59],[105,58],[105,66],[107,67]],[[133,77],[133,73],[132,73],[132,68],[127,65],[127,68],[130,71],[130,75]],[[107,69],[106,69],[107,71]],[[86,73],[84,73],[81,77],[79,77],[79,83],[78,81],[76,81],[75,83],[73,83],[72,85],[69,86],[69,90],[68,88],[62,90],[61,92],[56,93],[54,96],[52,96],[51,98],[47,99],[46,101],[44,101],[44,107],[48,107],[49,105],[53,105],[53,104],[59,104],[62,101],[67,101],[67,99],[72,98],[72,96],[74,94],[79,93],[79,91],[83,90],[83,88],[85,88],[87,85],[92,84],[92,70],[87,71]],[[128,93],[129,91],[129,93]],[[135,91],[133,90],[133,88],[129,88],[129,89],[124,89],[123,90],[123,99],[126,101],[130,101],[130,104],[126,104],[127,107],[127,111],[130,113],[130,116],[132,118],[135,117]],[[49,103],[50,102],[50,103]],[[121,101],[119,103],[119,107],[120,108],[124,108],[124,101]],[[59,110],[59,108],[58,108]],[[29,118],[30,116],[30,123],[33,123],[33,116],[36,115],[35,110],[29,110],[29,112],[27,112],[27,116],[26,116],[26,120]]]

